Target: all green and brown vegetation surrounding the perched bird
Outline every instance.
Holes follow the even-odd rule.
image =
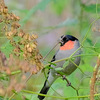
[[[0,100],[44,95],[39,91],[49,65],[73,59],[51,63],[57,48],[44,59],[63,34],[79,38],[81,64],[57,79],[45,100],[100,99],[99,0],[0,0]]]

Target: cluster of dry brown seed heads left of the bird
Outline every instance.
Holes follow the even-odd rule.
[[[5,84],[0,82],[0,94],[11,95],[12,90],[18,92],[25,87],[28,80],[26,72],[33,75],[43,68],[42,56],[37,48],[38,36],[25,33],[20,28],[20,18],[8,11],[3,0],[0,2],[1,32],[13,48],[9,58],[0,51],[0,79],[6,80]],[[20,76],[17,72],[21,73]]]

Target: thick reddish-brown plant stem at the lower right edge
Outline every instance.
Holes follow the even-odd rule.
[[[94,88],[95,88],[96,76],[97,76],[99,67],[100,67],[100,55],[98,56],[97,64],[96,64],[96,66],[94,68],[93,76],[91,78],[91,83],[90,83],[90,100],[94,100],[94,94],[95,94]]]

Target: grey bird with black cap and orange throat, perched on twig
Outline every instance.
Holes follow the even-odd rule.
[[[80,42],[79,40],[72,36],[72,35],[62,35],[60,37],[60,46],[55,55],[53,56],[51,62],[54,62],[56,60],[64,59],[70,57],[72,54],[73,56],[77,56],[81,54],[81,49],[80,48]],[[78,50],[79,49],[79,50]],[[66,66],[63,68],[63,65],[66,61],[61,61],[57,62],[56,66],[55,65],[50,65],[50,69],[48,72],[48,77],[45,80],[44,86],[41,89],[40,93],[41,94],[47,94],[49,91],[51,85],[53,82],[60,77],[60,75],[57,75],[57,71],[55,70],[56,68],[61,68],[60,72],[64,73],[64,75],[70,75],[72,72],[74,72],[77,69],[77,66],[80,64],[81,57],[77,56],[74,58],[74,63],[71,61],[66,64]],[[77,65],[77,66],[76,66]],[[45,96],[38,95],[39,100],[43,100]]]

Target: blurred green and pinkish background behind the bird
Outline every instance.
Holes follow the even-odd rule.
[[[100,1],[96,0],[5,0],[9,10],[20,16],[20,24],[26,33],[38,34],[38,48],[45,56],[63,34],[77,37],[82,43],[82,56],[80,68],[67,78],[75,88],[79,88],[79,95],[89,95],[90,78],[96,64],[97,54],[100,53]],[[97,19],[97,20],[96,20]],[[92,23],[96,20],[94,23]],[[92,24],[91,24],[92,23]],[[90,27],[90,25],[92,25]],[[2,35],[1,35],[2,36]],[[84,38],[86,37],[86,38]],[[3,40],[2,40],[3,41]],[[50,61],[58,49],[55,48],[47,57]],[[38,93],[45,81],[42,72],[34,75],[27,83],[26,90]],[[98,82],[100,84],[100,82]],[[56,91],[54,91],[53,89]],[[48,95],[74,97],[76,91],[66,86],[61,78],[57,79],[50,88]],[[21,93],[16,95],[20,100]],[[38,100],[37,94],[24,93],[27,99]],[[99,100],[99,96],[95,100]],[[45,100],[61,100],[59,98],[46,97]],[[70,100],[78,100],[72,98]],[[81,98],[79,100],[89,100]]]

